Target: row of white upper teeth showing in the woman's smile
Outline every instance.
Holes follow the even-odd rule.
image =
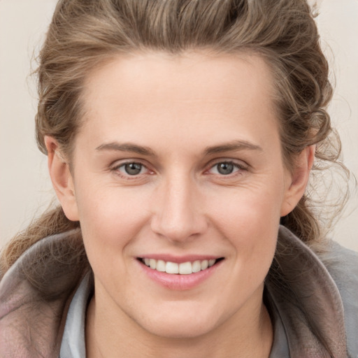
[[[216,259],[210,260],[196,260],[194,262],[182,262],[181,264],[177,264],[176,262],[164,262],[164,260],[156,260],[156,259],[142,259],[142,262],[152,268],[153,270],[157,270],[160,272],[166,272],[171,274],[180,275],[189,275],[190,273],[196,273],[201,270],[206,270],[206,268],[213,266],[215,264]]]

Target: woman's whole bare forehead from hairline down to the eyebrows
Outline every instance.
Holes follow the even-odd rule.
[[[253,141],[260,122],[277,131],[272,83],[264,60],[245,53],[118,56],[87,77],[83,130],[98,141],[170,135],[190,142],[214,130],[213,141],[233,131]]]

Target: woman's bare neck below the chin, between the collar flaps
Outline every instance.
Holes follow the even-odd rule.
[[[108,315],[108,312],[110,314]],[[166,338],[150,334],[127,319],[113,320],[93,298],[87,310],[86,349],[89,358],[111,357],[268,357],[273,341],[271,320],[262,303],[256,315],[236,315],[199,337]],[[131,322],[128,322],[131,321]]]

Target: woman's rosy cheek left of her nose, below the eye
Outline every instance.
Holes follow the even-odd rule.
[[[82,185],[76,199],[87,256],[92,267],[101,270],[125,264],[118,255],[135,241],[148,220],[148,210],[144,208],[143,197],[138,203],[140,196],[134,197],[131,192],[99,187]]]

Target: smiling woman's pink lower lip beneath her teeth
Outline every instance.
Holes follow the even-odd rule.
[[[138,261],[138,260],[137,260]],[[146,266],[142,262],[138,261],[138,264],[141,265],[141,268],[152,280],[157,282],[159,285],[162,285],[169,289],[175,290],[185,290],[192,289],[196,286],[199,286],[203,281],[210,278],[211,275],[221,266],[224,260],[217,262],[215,265],[206,268],[205,270],[190,273],[189,275],[180,275],[180,274],[171,274],[166,272],[160,272],[153,270],[152,268]]]

